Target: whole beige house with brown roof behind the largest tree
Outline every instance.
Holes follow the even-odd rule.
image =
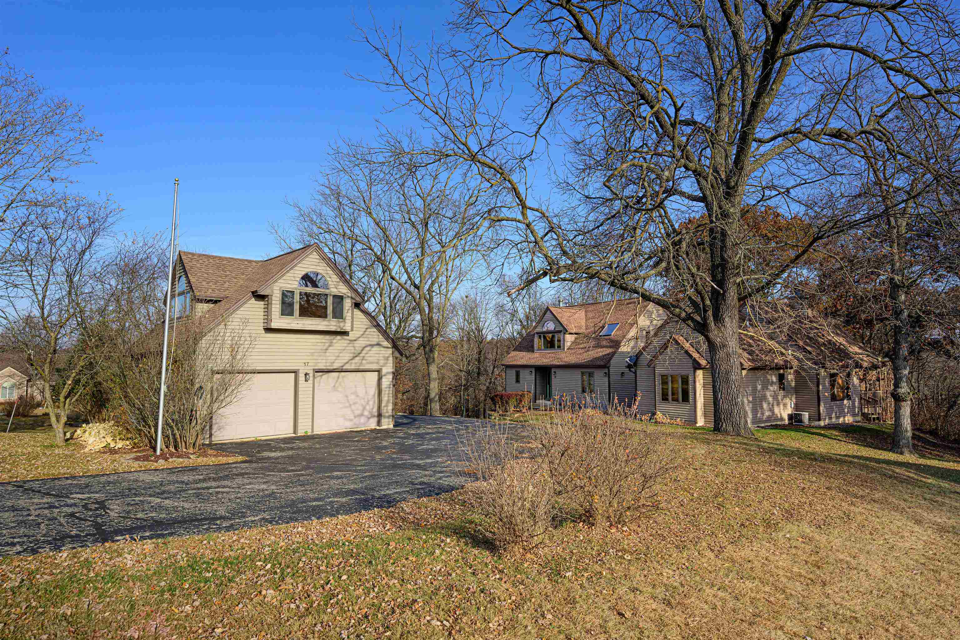
[[[798,412],[811,424],[860,418],[857,371],[880,367],[876,355],[838,330],[759,339],[748,328],[741,366],[752,425],[786,423]],[[636,298],[548,307],[503,362],[506,391],[532,391],[541,406],[592,391],[601,405],[615,399],[639,415],[712,426],[709,363],[702,337]]]

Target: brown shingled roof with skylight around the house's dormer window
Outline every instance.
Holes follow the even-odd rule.
[[[623,341],[636,326],[637,317],[649,306],[649,302],[632,297],[610,302],[547,307],[550,313],[564,324],[568,333],[580,335],[563,351],[537,351],[534,348],[537,333],[535,325],[501,364],[520,367],[608,367]],[[542,316],[540,318],[542,319]],[[601,336],[600,332],[611,322],[619,322],[620,326],[612,336]],[[540,320],[537,323],[539,324]],[[579,331],[571,329],[571,325]]]

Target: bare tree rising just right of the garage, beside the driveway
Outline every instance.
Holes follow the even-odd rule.
[[[379,292],[384,314],[396,289],[403,293],[417,316],[410,333],[396,335],[417,342],[426,364],[426,412],[438,415],[438,345],[458,287],[483,259],[481,249],[491,249],[481,247],[490,204],[464,163],[411,161],[420,144],[415,136],[384,132],[379,143],[332,149],[313,201],[295,202],[290,228],[275,232],[288,244],[293,238],[329,246],[330,237],[341,238],[375,264],[370,289]]]

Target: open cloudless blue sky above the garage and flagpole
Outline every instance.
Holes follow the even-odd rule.
[[[323,5],[323,6],[321,6]],[[148,8],[3,3],[0,47],[52,93],[84,106],[103,133],[74,188],[112,194],[132,230],[168,228],[180,178],[184,249],[276,253],[269,221],[308,198],[339,135],[369,136],[389,97],[346,73],[380,64],[352,41],[351,18],[442,32],[448,4],[234,3]],[[415,124],[384,116],[391,124]]]

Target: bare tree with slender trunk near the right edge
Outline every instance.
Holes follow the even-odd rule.
[[[882,215],[831,243],[815,291],[825,306],[847,296],[834,312],[848,324],[869,323],[871,343],[889,355],[891,451],[913,455],[910,363],[930,335],[948,334],[957,320],[949,294],[960,270],[960,127],[904,108],[886,136],[843,143],[868,168],[862,206]]]

